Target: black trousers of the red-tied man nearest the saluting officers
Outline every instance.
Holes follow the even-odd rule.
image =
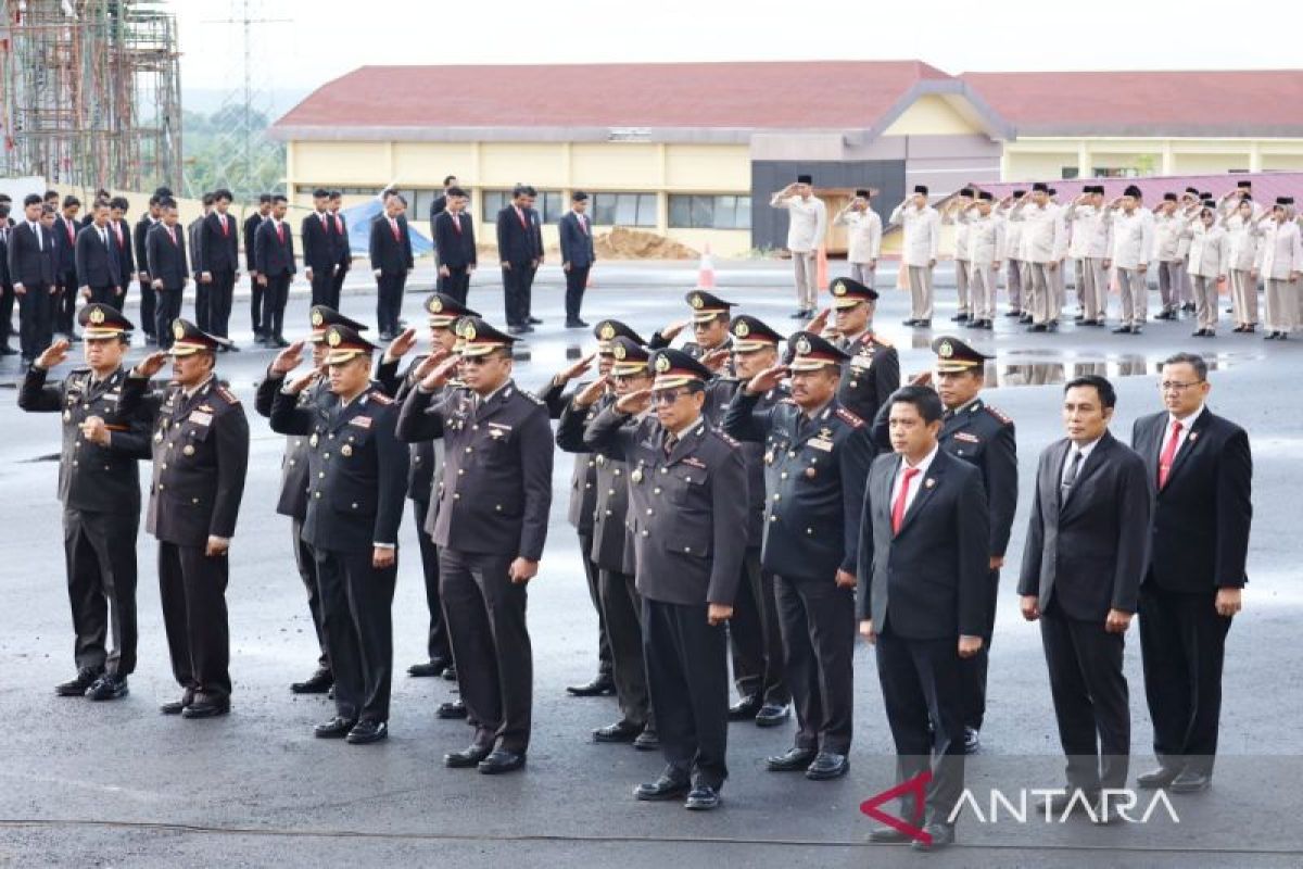
[[[907,640],[891,631],[889,616],[876,649],[882,701],[896,749],[896,783],[930,771],[921,819],[945,823],[964,790],[959,637]],[[900,806],[906,821],[919,817],[912,795],[903,797]]]

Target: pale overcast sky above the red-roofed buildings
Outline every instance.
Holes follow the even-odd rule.
[[[992,69],[1270,69],[1303,65],[1303,12],[1188,0],[171,0],[186,90],[255,79],[294,99],[367,64],[919,59]],[[794,16],[794,10],[804,14]],[[1285,18],[1293,18],[1286,22]],[[1280,26],[1276,26],[1280,25]],[[276,100],[285,111],[287,98]]]

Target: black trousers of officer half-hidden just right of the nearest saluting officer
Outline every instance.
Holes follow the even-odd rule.
[[[761,569],[758,548],[747,550],[741,569],[734,614],[728,619],[734,684],[740,697],[756,694],[766,704],[786,706],[792,694],[784,675],[783,628],[774,576]]]

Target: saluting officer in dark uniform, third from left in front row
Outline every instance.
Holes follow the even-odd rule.
[[[397,404],[371,380],[371,353],[379,348],[340,324],[326,330],[326,345],[327,388],[304,405],[298,393],[319,371],[284,386],[271,405],[271,427],[308,435],[311,489],[302,534],[317,559],[336,710],[314,732],[362,745],[388,736],[408,451],[394,435]]]

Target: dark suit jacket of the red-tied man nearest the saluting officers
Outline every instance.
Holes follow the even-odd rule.
[[[906,640],[959,640],[986,631],[990,541],[981,473],[937,449],[900,533],[891,502],[900,456],[878,456],[864,489],[860,520],[860,620]]]

